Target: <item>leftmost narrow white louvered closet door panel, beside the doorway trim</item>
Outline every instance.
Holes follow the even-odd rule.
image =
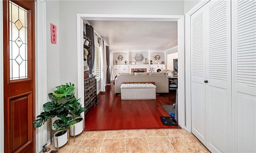
[[[192,133],[206,145],[205,17],[203,8],[191,16]]]

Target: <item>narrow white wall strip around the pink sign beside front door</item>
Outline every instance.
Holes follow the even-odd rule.
[[[58,0],[46,0],[46,43],[47,43],[47,93],[53,92],[60,85],[60,9]],[[57,43],[51,42],[50,24],[57,27]],[[67,69],[65,69],[67,71]],[[47,96],[47,100],[50,101]],[[45,101],[46,103],[47,101]],[[50,119],[47,122],[47,140],[50,140]]]

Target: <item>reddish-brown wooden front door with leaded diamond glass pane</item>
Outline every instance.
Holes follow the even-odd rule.
[[[4,152],[35,152],[35,4],[3,1]]]

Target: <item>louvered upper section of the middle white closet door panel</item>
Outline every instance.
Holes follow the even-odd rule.
[[[227,82],[226,18],[225,1],[210,8],[209,22],[212,24],[209,24],[209,80]],[[215,36],[218,36],[217,39]]]

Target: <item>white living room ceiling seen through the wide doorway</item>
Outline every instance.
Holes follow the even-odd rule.
[[[177,46],[175,21],[87,20],[114,51],[167,50]]]

